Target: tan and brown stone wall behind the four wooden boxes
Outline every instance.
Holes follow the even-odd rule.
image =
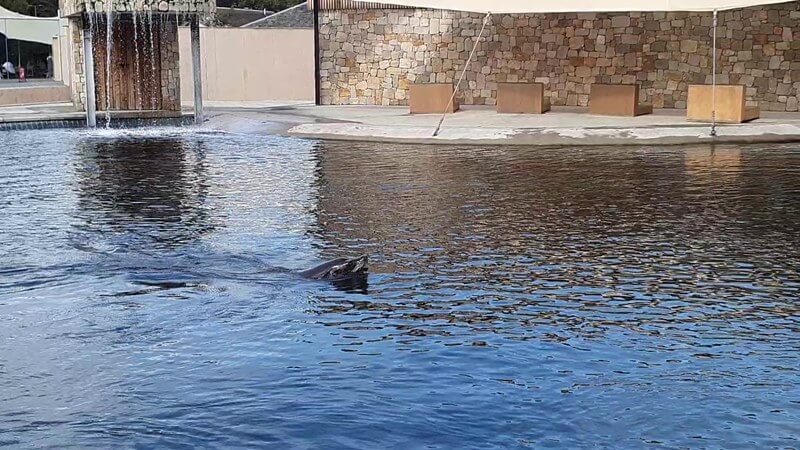
[[[408,85],[454,82],[481,15],[441,10],[321,14],[324,104],[406,105]],[[800,3],[719,14],[720,84],[762,110],[798,111]],[[592,83],[640,83],[657,108],[685,108],[711,82],[711,13],[496,15],[462,84],[462,104],[495,103],[497,82],[538,81],[554,105],[586,106]]]

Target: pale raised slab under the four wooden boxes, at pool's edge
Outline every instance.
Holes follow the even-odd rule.
[[[699,142],[800,141],[800,114],[764,113],[759,120],[710,125],[686,120],[683,110],[656,110],[639,117],[592,116],[584,108],[555,107],[547,114],[497,114],[490,108],[465,108],[448,115],[438,136],[439,115],[408,114],[407,108],[292,106],[284,114],[307,118],[287,130],[299,137],[410,143],[516,145],[642,145]]]

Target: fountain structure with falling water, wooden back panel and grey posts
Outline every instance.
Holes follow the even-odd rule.
[[[202,121],[200,22],[214,0],[61,0],[72,39],[72,98],[96,126],[181,116],[178,26],[191,27],[195,121]]]

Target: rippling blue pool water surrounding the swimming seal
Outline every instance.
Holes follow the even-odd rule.
[[[0,445],[800,447],[797,146],[0,140]]]

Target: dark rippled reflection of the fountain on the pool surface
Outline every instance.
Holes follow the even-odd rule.
[[[76,214],[90,239],[118,245],[181,246],[214,230],[206,204],[208,175],[202,143],[179,137],[103,139],[76,145]],[[127,240],[126,240],[127,239]]]

